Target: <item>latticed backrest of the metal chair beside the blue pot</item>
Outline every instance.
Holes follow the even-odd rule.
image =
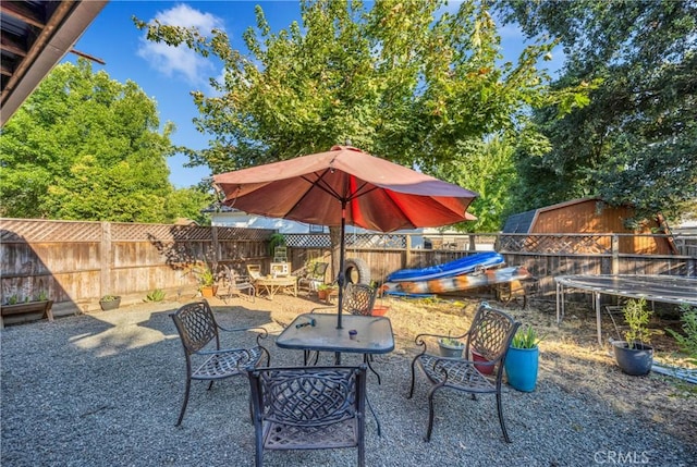
[[[506,312],[482,302],[469,327],[466,348],[474,348],[489,361],[502,360],[519,325]]]

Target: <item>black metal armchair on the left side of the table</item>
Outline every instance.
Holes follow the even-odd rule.
[[[186,390],[176,427],[182,423],[192,380],[210,381],[208,390],[217,380],[246,374],[248,367],[256,367],[266,354],[266,365],[271,360],[269,352],[260,344],[266,339],[266,329],[258,327],[227,329],[218,324],[208,302],[192,302],[170,315],[182,340],[186,357]],[[220,331],[242,333],[255,331],[256,345],[249,348],[220,348]],[[215,343],[213,343],[215,342]]]

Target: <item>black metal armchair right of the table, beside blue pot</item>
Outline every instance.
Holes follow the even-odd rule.
[[[465,340],[465,356],[461,358],[439,357],[427,353],[428,337],[433,341],[437,337],[447,337],[437,334],[419,334],[416,344],[421,352],[412,360],[412,385],[408,398],[414,395],[414,382],[416,367],[424,372],[431,386],[428,391],[428,429],[426,441],[430,441],[433,429],[433,396],[441,388],[450,388],[472,394],[496,394],[499,422],[503,431],[503,438],[511,442],[503,421],[501,406],[501,383],[503,378],[503,361],[505,360],[513,335],[521,325],[505,312],[491,308],[482,303],[472,321],[469,330],[453,339]],[[487,361],[475,361],[470,358],[472,351],[480,354]]]

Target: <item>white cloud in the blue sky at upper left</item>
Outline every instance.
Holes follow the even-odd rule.
[[[154,20],[172,26],[194,26],[204,35],[209,35],[213,28],[223,28],[221,19],[210,13],[203,13],[185,3],[158,12]],[[163,42],[152,42],[143,37],[137,53],[166,76],[183,76],[192,85],[207,84],[208,76],[215,74],[211,60],[198,56],[186,46],[172,47]]]

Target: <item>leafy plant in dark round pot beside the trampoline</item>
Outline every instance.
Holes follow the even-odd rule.
[[[646,307],[645,298],[632,298],[622,308],[622,314],[629,328],[624,333],[624,341],[610,341],[615,361],[626,374],[648,374],[653,365],[653,347],[649,345],[651,332],[648,329],[651,310]]]

